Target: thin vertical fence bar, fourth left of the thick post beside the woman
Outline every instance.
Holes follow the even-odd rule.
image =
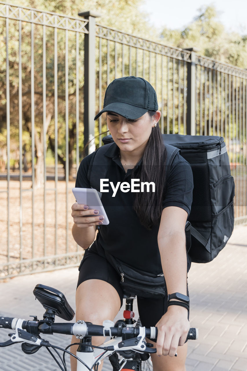
[[[44,154],[44,256],[46,256],[46,26],[43,15],[43,154]],[[46,262],[46,260],[45,260]]]

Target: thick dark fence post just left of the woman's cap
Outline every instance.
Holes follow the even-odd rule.
[[[88,20],[86,29],[88,33],[84,36],[84,147],[94,137],[95,117],[95,18],[101,17],[99,13],[78,13],[79,16]],[[86,155],[95,150],[94,141],[86,148]]]

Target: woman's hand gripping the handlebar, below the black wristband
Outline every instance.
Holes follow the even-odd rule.
[[[169,306],[156,326],[158,327],[157,355],[173,357],[177,353],[178,346],[184,345],[190,329],[187,309],[178,305]]]

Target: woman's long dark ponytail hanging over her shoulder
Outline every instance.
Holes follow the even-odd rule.
[[[153,117],[155,111],[148,111]],[[162,200],[165,188],[165,160],[166,149],[159,128],[153,127],[144,154],[142,164],[132,172],[132,178],[140,179],[140,182],[154,182],[155,192],[138,192],[135,194],[133,208],[138,215],[141,224],[148,230],[153,225],[158,225],[162,213]]]

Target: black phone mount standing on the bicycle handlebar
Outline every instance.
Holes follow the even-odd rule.
[[[65,296],[59,290],[53,289],[52,287],[38,284],[33,290],[34,296],[46,309],[44,313],[44,320],[54,322],[55,315],[71,321],[75,312],[67,302]]]

